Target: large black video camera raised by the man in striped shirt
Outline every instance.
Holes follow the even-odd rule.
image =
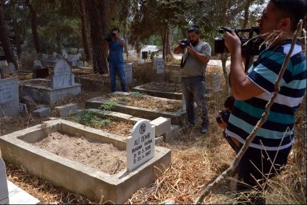
[[[231,32],[231,28],[221,27],[218,33],[224,33],[224,31]],[[233,29],[234,32],[239,36],[241,40],[241,50],[244,56],[259,55],[264,47],[260,45],[264,42],[264,39],[256,37],[253,38],[253,33],[259,34],[259,27],[252,27],[247,29]],[[248,32],[249,37],[243,38],[239,33]],[[247,44],[245,44],[247,43]],[[229,53],[228,49],[225,47],[225,39],[222,37],[214,38],[214,52],[215,53]]]

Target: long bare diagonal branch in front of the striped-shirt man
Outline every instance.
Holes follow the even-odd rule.
[[[230,167],[224,171],[220,176],[218,176],[212,183],[210,183],[210,185],[208,185],[206,187],[206,189],[203,191],[203,193],[199,196],[199,198],[195,201],[195,204],[201,204],[204,200],[204,198],[218,185],[220,185],[227,176],[229,176],[230,174],[232,174],[234,172],[234,170],[236,169],[236,167],[238,166],[241,158],[243,157],[244,153],[246,152],[246,150],[248,149],[249,145],[251,144],[251,142],[253,141],[253,139],[256,136],[256,133],[258,132],[258,130],[261,128],[261,126],[266,122],[268,115],[270,113],[270,108],[274,103],[275,98],[277,97],[277,94],[279,92],[279,83],[282,79],[282,76],[284,74],[284,71],[286,71],[287,69],[287,65],[291,56],[291,53],[293,51],[294,45],[296,43],[296,39],[297,39],[297,35],[301,30],[302,27],[302,23],[303,20],[300,20],[299,23],[297,24],[296,27],[296,31],[294,33],[294,37],[292,40],[292,44],[291,44],[291,48],[289,53],[286,55],[286,58],[283,61],[283,64],[281,66],[281,69],[279,71],[278,77],[275,81],[275,91],[273,93],[272,98],[268,101],[266,108],[265,108],[265,112],[262,113],[261,118],[259,119],[259,121],[257,122],[256,126],[254,127],[253,131],[250,133],[250,135],[246,138],[246,141],[243,145],[243,147],[241,148],[241,150],[239,151],[239,153],[235,156],[234,160],[232,161]]]

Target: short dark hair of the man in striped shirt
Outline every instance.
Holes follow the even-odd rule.
[[[291,30],[295,31],[300,19],[306,15],[306,0],[271,0],[281,17],[289,17]]]

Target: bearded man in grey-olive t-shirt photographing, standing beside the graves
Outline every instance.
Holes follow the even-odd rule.
[[[198,105],[203,120],[201,133],[206,133],[209,128],[208,108],[205,101],[205,73],[207,63],[211,56],[211,47],[200,39],[198,26],[188,29],[190,46],[182,49],[181,42],[174,49],[174,54],[183,53],[181,81],[182,91],[186,101],[188,124],[195,125],[194,101]]]

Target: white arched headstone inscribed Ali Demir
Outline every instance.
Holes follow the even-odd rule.
[[[155,156],[155,126],[146,119],[138,121],[127,137],[127,171],[140,167]]]

